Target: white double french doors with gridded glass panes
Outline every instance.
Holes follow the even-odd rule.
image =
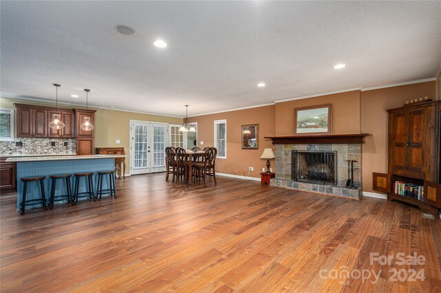
[[[165,171],[167,124],[130,122],[130,174]]]

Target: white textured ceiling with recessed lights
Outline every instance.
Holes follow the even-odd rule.
[[[84,102],[88,87],[90,105],[183,116],[186,104],[196,115],[433,78],[441,65],[440,1],[0,5],[8,97],[54,100],[60,83],[63,102]],[[159,38],[166,49],[152,45]]]

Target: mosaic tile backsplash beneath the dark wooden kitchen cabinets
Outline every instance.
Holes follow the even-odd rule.
[[[75,153],[76,140],[74,138],[15,138],[12,142],[0,141],[0,155],[71,155]]]

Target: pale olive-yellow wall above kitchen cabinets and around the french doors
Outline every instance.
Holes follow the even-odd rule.
[[[14,103],[29,105],[44,105],[54,107],[55,104],[48,102],[38,102],[34,100],[21,100],[0,98],[0,107],[14,109]],[[59,105],[65,109],[80,109],[73,105]],[[92,108],[91,108],[92,109]],[[130,153],[130,120],[140,120],[149,122],[163,122],[170,124],[181,124],[182,118],[173,118],[167,116],[157,116],[143,113],[132,113],[127,111],[96,109],[95,113],[95,147],[123,147],[125,153]],[[116,140],[121,140],[116,144]],[[130,171],[130,162],[127,160],[125,173]]]

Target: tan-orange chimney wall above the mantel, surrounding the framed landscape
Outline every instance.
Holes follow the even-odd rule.
[[[294,135],[294,109],[332,104],[332,133],[360,133],[360,91],[347,91],[276,104],[276,135]]]

